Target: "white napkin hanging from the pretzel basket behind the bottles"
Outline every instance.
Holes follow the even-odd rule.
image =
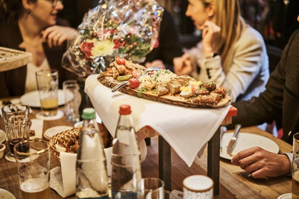
[[[145,160],[147,155],[147,146],[143,140],[139,143],[141,152],[141,162]],[[57,191],[57,193],[66,198],[76,193],[76,159],[77,154],[63,152],[65,148],[60,148],[60,167],[51,169],[50,172],[50,187]],[[111,176],[111,155],[112,147],[104,149],[107,163],[107,173]]]

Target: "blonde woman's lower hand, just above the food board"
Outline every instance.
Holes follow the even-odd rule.
[[[177,75],[188,75],[192,72],[190,56],[185,53],[181,57],[173,58],[173,71]]]

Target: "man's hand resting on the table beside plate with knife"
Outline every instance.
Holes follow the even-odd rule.
[[[252,177],[277,177],[290,173],[291,162],[287,155],[274,154],[260,147],[253,147],[237,153],[231,160]]]

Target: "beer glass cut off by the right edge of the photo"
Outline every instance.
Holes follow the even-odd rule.
[[[299,199],[299,133],[293,137],[292,199]]]

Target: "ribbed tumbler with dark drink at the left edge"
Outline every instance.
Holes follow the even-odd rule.
[[[8,158],[14,159],[13,147],[16,143],[29,140],[29,106],[9,104],[2,107],[3,122],[8,138]]]

